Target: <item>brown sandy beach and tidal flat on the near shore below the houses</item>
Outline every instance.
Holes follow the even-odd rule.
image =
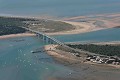
[[[119,80],[120,79],[120,69],[115,68],[115,66],[107,65],[94,65],[91,63],[81,63],[79,60],[76,60],[73,56],[68,56],[62,54],[62,52],[55,52],[54,48],[56,45],[47,45],[44,48],[47,51],[47,54],[54,57],[54,59],[69,67],[72,70],[66,77],[51,77],[48,80]],[[109,73],[109,74],[108,74]]]

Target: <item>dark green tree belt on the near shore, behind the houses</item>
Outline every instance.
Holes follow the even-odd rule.
[[[120,57],[120,45],[79,44],[68,46],[72,48],[83,49],[96,54]]]

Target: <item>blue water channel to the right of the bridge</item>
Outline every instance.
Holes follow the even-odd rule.
[[[53,36],[62,42],[120,41],[120,28],[111,28],[82,34]]]

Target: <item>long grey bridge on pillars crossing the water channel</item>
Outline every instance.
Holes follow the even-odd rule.
[[[49,44],[58,44],[58,45],[62,46],[64,49],[67,49],[68,52],[70,52],[74,55],[78,55],[78,53],[95,55],[94,53],[90,53],[90,52],[87,52],[87,51],[84,51],[84,50],[81,50],[81,49],[71,48],[71,47],[67,46],[66,44],[64,44],[63,42],[60,42],[59,40],[57,40],[53,37],[50,37],[50,36],[44,34],[43,32],[35,31],[35,30],[28,29],[28,28],[25,28],[25,27],[23,27],[23,28],[30,31],[30,32],[35,33],[39,38],[41,38],[45,42],[47,41]]]

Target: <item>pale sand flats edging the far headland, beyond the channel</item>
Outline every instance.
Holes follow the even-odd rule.
[[[118,18],[116,18],[118,16]],[[6,17],[17,17],[17,18],[33,18],[33,19],[44,19],[43,17],[30,17],[30,16],[6,16]],[[102,29],[113,28],[119,26],[120,23],[120,13],[111,14],[96,14],[96,15],[86,15],[86,16],[76,16],[69,18],[60,19],[47,19],[53,21],[61,21],[73,25],[73,30],[60,31],[45,33],[47,35],[69,35],[69,34],[80,34],[91,31],[97,31]],[[83,20],[83,21],[80,21]]]

